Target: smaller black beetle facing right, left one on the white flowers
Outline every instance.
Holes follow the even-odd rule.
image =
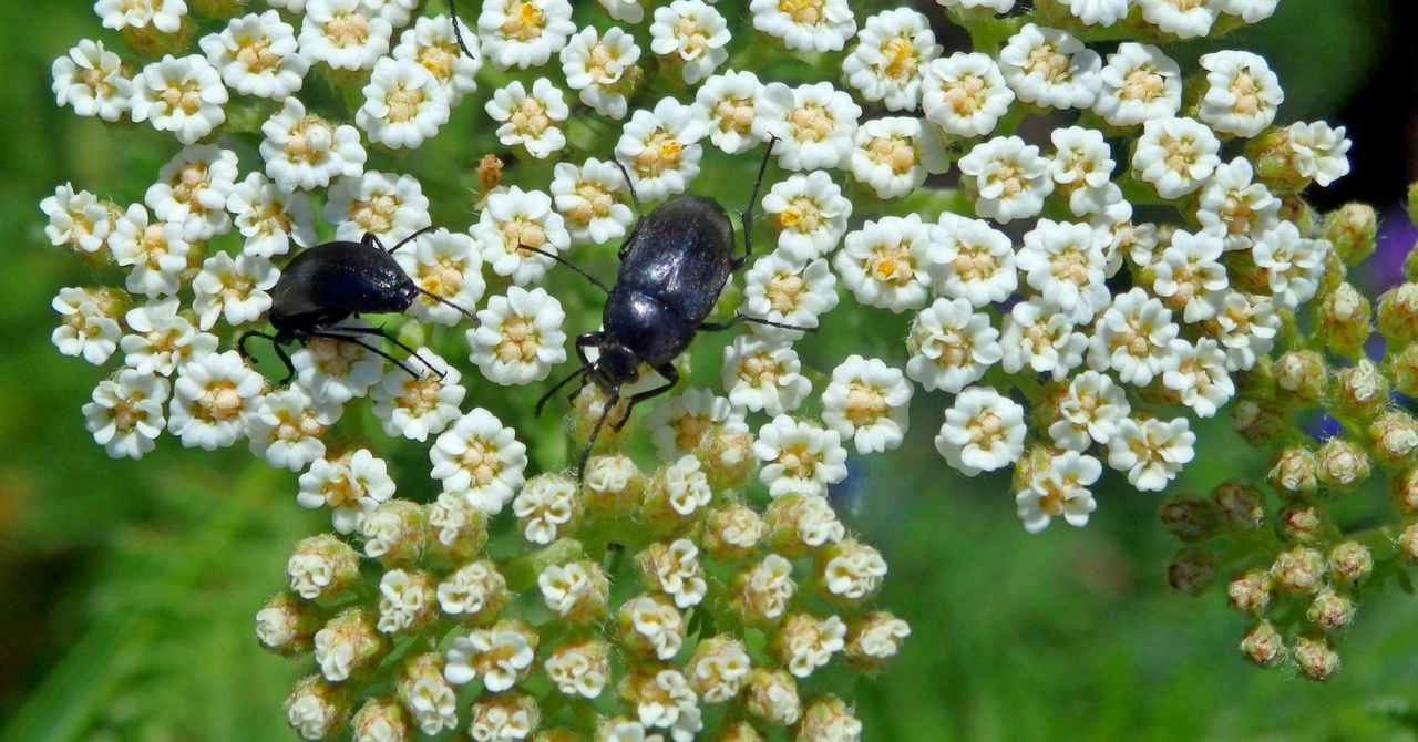
[[[423,362],[424,359],[413,348],[390,338],[383,328],[349,328],[339,326],[339,323],[350,315],[366,312],[406,312],[420,295],[447,304],[476,321],[462,306],[420,287],[394,260],[396,250],[431,230],[434,227],[424,227],[389,250],[373,233],[364,233],[364,237],[357,243],[340,240],[305,250],[286,264],[275,288],[271,289],[271,311],[267,312],[267,319],[271,321],[275,335],[254,329],[247,331],[237,340],[237,350],[244,358],[250,358],[247,353],[248,338],[257,336],[271,340],[277,356],[285,363],[286,377],[281,380],[285,384],[295,377],[295,365],[285,353],[285,345],[305,342],[311,338],[329,338],[379,353],[417,379],[418,375],[401,360],[357,336],[383,338]],[[444,376],[427,362],[424,366],[440,377]]]

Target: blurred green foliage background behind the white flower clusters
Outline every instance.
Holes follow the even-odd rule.
[[[139,200],[176,148],[55,108],[54,57],[112,38],[92,3],[0,0],[0,741],[294,739],[281,701],[306,665],[261,651],[252,616],[325,514],[244,445],[163,438],[111,461],[79,414],[101,372],[48,340],[51,297],[98,278],[48,245],[40,199],[72,180]],[[1407,0],[1285,0],[1258,28],[1171,52],[1265,54],[1283,121],[1349,123],[1356,139],[1354,173],[1320,201],[1391,207],[1414,177],[1415,31]],[[943,404],[917,394],[908,450],[875,457],[844,501],[891,565],[881,604],[913,627],[892,671],[856,688],[866,739],[1418,739],[1412,596],[1367,593],[1344,668],[1316,685],[1244,664],[1246,621],[1215,590],[1167,592],[1166,497],[1263,477],[1263,454],[1224,424],[1201,427],[1198,461],[1164,497],[1113,477],[1088,528],[1028,536],[1004,478],[964,480],[933,451]],[[1381,487],[1350,497],[1356,522],[1383,508]]]

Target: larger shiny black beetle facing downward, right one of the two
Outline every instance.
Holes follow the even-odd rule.
[[[586,463],[605,417],[621,399],[621,386],[640,380],[641,366],[657,370],[666,382],[632,394],[624,417],[611,426],[613,430],[625,427],[635,404],[669,392],[679,382],[674,360],[689,346],[696,332],[729,329],[743,322],[815,332],[813,328],[783,325],[739,314],[727,322],[705,322],[719,302],[719,294],[729,282],[729,275],[753,255],[753,207],[759,201],[759,187],[763,184],[763,173],[769,167],[774,143],[777,138],[769,140],[769,150],[763,155],[759,177],[753,182],[753,192],[749,196],[749,210],[739,214],[743,220],[742,257],[735,257],[733,223],[719,201],[703,196],[679,196],[645,216],[634,187],[630,194],[638,216],[635,226],[621,243],[618,251],[621,267],[614,287],[607,287],[560,255],[520,245],[520,250],[539,253],[570,267],[607,292],[601,315],[603,329],[576,338],[576,355],[581,360],[581,367],[557,382],[536,404],[536,414],[542,414],[542,407],[553,394],[583,375],[608,397],[605,410],[586,441],[580,472],[586,471]],[[625,173],[625,166],[620,160],[617,165]],[[625,183],[630,182],[630,173],[625,173]],[[586,358],[587,348],[600,352],[594,362]]]

